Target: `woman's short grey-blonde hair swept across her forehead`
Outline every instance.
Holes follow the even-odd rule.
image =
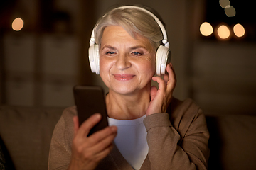
[[[122,26],[135,38],[135,33],[149,39],[156,50],[163,40],[161,29],[152,16],[137,8],[114,8],[97,21],[95,42],[100,47],[103,31],[107,26]]]

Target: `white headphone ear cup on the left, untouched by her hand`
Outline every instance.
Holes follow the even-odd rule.
[[[100,74],[99,45],[95,44],[89,47],[89,62],[92,72]]]

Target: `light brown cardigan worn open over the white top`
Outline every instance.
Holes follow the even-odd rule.
[[[167,113],[144,119],[149,153],[141,169],[207,169],[209,133],[205,117],[191,99],[171,101]],[[73,140],[75,106],[66,108],[55,126],[50,144],[49,170],[68,169]],[[114,145],[97,169],[132,170]]]

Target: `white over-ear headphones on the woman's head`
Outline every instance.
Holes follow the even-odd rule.
[[[159,76],[161,74],[165,74],[167,60],[168,62],[171,60],[171,52],[169,50],[169,42],[167,41],[167,34],[166,34],[166,30],[164,29],[164,25],[161,23],[161,21],[159,21],[159,18],[157,18],[153,13],[151,13],[150,11],[147,11],[144,8],[141,8],[138,6],[121,6],[115,9],[122,9],[122,8],[137,8],[139,10],[142,10],[146,13],[149,13],[149,15],[151,15],[154,18],[156,23],[158,23],[159,27],[161,28],[161,32],[163,33],[163,36],[164,36],[164,39],[162,40],[162,43],[164,45],[159,45],[158,49],[156,50],[156,74]],[[93,28],[92,36],[90,38],[89,62],[90,62],[90,67],[92,72],[95,72],[96,74],[100,74],[99,45],[95,43],[94,30],[95,28]]]

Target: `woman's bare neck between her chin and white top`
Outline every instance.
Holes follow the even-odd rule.
[[[109,91],[106,96],[107,114],[110,118],[132,120],[146,114],[149,106],[150,89],[134,94],[117,94]]]

